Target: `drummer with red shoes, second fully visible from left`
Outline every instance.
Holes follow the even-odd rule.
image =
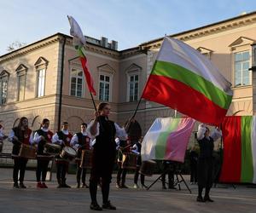
[[[38,144],[37,158],[38,158],[38,166],[37,166],[37,187],[38,188],[47,188],[45,184],[45,178],[47,174],[47,168],[49,164],[49,159],[47,158],[47,154],[44,153],[44,146],[46,143],[51,143],[51,139],[53,136],[52,131],[49,130],[49,119],[44,118],[41,128],[35,132],[34,142]],[[41,182],[42,176],[42,182]]]

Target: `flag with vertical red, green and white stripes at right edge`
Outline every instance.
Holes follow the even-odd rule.
[[[224,162],[219,181],[256,183],[256,117],[226,117],[222,132]]]

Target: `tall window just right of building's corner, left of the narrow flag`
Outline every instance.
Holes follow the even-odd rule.
[[[75,68],[71,70],[70,95],[83,96],[83,71]]]

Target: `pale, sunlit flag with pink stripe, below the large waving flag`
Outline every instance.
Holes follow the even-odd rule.
[[[143,138],[143,160],[183,163],[194,124],[193,118],[156,118]]]

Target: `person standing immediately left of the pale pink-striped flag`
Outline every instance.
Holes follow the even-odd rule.
[[[138,180],[138,176],[139,176],[139,170],[141,168],[142,165],[142,156],[141,156],[141,151],[142,151],[142,142],[143,142],[143,138],[141,138],[139,141],[137,141],[133,147],[131,148],[132,153],[136,153],[137,154],[137,168],[135,170],[135,174],[134,174],[134,188],[138,188],[137,185],[137,180]],[[145,176],[143,174],[141,174],[141,184],[142,187],[147,188],[145,186]]]

